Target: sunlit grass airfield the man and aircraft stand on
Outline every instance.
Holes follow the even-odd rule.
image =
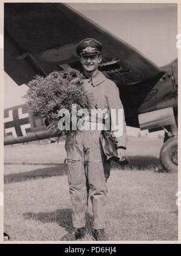
[[[130,139],[131,163],[112,165],[108,180],[109,240],[177,240],[177,174],[156,173],[162,140]],[[10,240],[61,240],[72,231],[64,143],[4,148],[4,231]],[[92,209],[87,235],[92,237]]]

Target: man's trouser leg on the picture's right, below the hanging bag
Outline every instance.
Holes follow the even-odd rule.
[[[87,180],[94,214],[94,229],[106,228],[107,185],[104,175],[104,159],[100,147],[100,131],[85,133],[87,147]],[[108,168],[108,165],[107,165]],[[108,169],[107,169],[108,171]]]

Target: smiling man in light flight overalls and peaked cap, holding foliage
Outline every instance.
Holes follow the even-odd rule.
[[[83,67],[84,89],[93,96],[91,108],[104,110],[108,107],[107,100],[109,100],[110,109],[123,109],[115,83],[98,70],[102,60],[101,43],[95,39],[86,38],[77,45],[76,50]],[[68,182],[75,232],[65,235],[62,240],[76,240],[83,238],[86,234],[89,195],[94,214],[94,237],[96,240],[108,240],[105,232],[106,182],[110,174],[110,161],[106,160],[101,148],[100,133],[101,131],[98,130],[77,130],[69,131],[66,136]],[[125,120],[123,120],[123,134],[121,137],[116,137],[116,145],[119,159],[124,159],[127,145]]]

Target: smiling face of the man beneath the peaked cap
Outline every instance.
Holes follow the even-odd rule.
[[[98,69],[101,60],[102,58],[98,54],[80,57],[81,65],[86,73],[94,73]]]

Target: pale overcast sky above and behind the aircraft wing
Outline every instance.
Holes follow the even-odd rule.
[[[128,42],[159,66],[168,64],[177,57],[176,4],[69,5]],[[4,107],[24,103],[21,96],[24,95],[27,86],[18,87],[7,74],[4,82]]]

